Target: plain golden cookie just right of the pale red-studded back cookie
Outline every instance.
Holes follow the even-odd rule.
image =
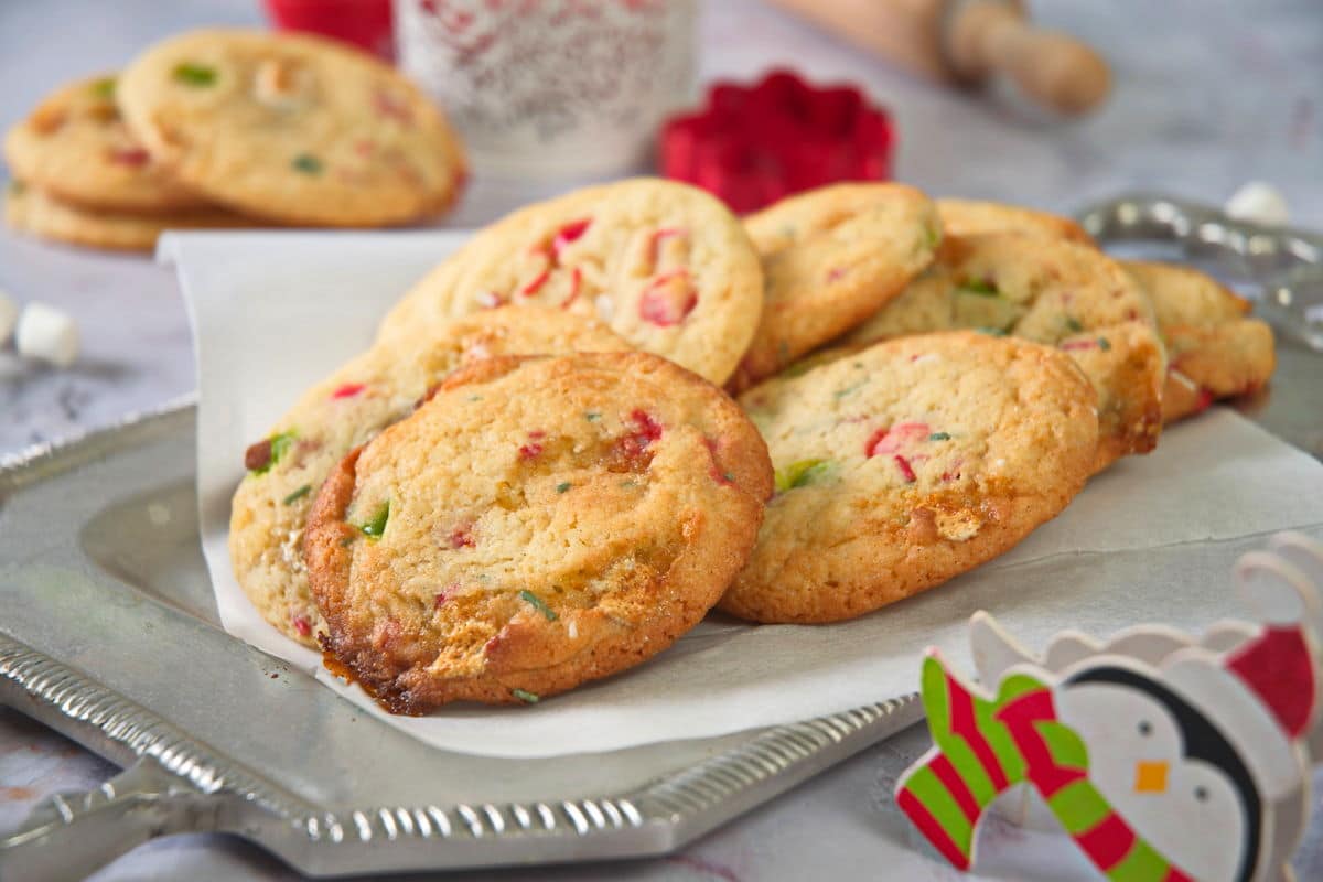
[[[942,238],[933,204],[901,184],[824,186],[745,218],[745,229],[766,303],[737,390],[877,312],[933,262]]]

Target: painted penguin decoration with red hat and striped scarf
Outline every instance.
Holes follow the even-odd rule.
[[[1115,882],[1291,879],[1323,741],[1323,543],[1277,536],[1236,582],[1254,623],[1146,624],[1105,641],[1065,631],[1041,657],[975,614],[982,685],[926,653],[934,746],[901,776],[897,805],[962,870],[992,803],[1032,788]]]

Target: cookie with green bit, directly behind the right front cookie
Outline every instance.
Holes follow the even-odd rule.
[[[1058,346],[1098,390],[1101,469],[1162,430],[1166,365],[1143,288],[1101,251],[1046,237],[950,237],[937,264],[849,333],[855,344],[979,328]]]

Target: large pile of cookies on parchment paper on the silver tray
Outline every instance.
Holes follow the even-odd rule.
[[[830,623],[995,558],[1265,383],[1244,311],[897,184],[744,221],[578,190],[474,235],[246,451],[234,571],[394,711],[536,702],[712,608]]]

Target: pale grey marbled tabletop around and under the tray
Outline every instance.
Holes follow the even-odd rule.
[[[1000,93],[953,94],[765,8],[709,0],[703,75],[750,78],[792,65],[820,81],[863,83],[900,132],[900,180],[938,194],[1072,210],[1121,190],[1155,189],[1221,202],[1261,179],[1290,198],[1293,220],[1323,227],[1323,13],[1315,0],[1043,0],[1044,24],[1086,37],[1109,57],[1115,94],[1097,115],[1060,124]],[[257,0],[44,0],[0,4],[0,127],[54,83],[114,69],[149,41],[200,24],[258,21]],[[536,193],[475,181],[450,225],[497,217]],[[147,258],[106,255],[0,231],[0,288],[71,312],[83,357],[71,370],[36,369],[0,352],[0,455],[107,424],[193,387],[188,329],[175,280]],[[798,879],[958,878],[923,846],[890,801],[890,787],[925,747],[921,729],[843,763],[681,854],[628,865],[491,874],[491,878]],[[107,763],[16,711],[0,709],[0,829],[45,795],[94,787]],[[1323,776],[1315,778],[1323,785]],[[1086,878],[1072,848],[994,820],[984,873]],[[1027,848],[1028,846],[1028,848]],[[1323,820],[1297,860],[1323,878]],[[95,878],[277,879],[294,875],[242,842],[175,837],[122,858]],[[468,877],[472,878],[472,877]]]

